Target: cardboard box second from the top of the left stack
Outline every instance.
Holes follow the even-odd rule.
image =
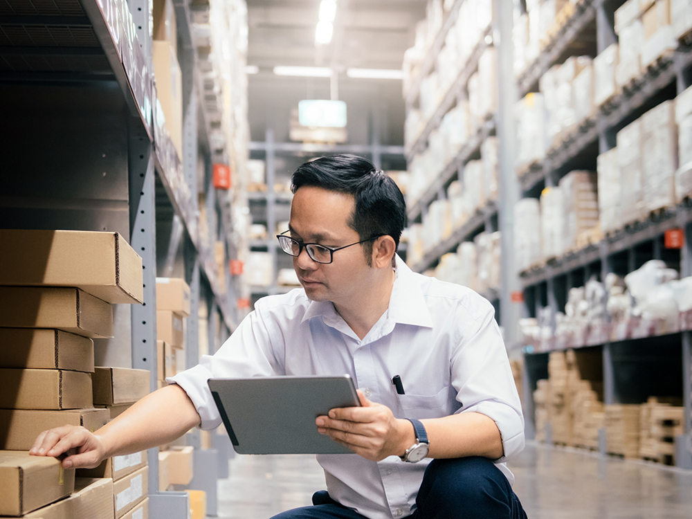
[[[79,289],[0,286],[0,327],[54,328],[110,338],[113,311],[107,302]]]

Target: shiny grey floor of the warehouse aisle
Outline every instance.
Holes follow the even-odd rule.
[[[527,442],[513,459],[529,519],[689,519],[692,471]],[[238,456],[219,481],[219,518],[267,519],[325,488],[312,456]]]

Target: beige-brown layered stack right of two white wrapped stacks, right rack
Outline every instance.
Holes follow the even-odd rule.
[[[579,236],[599,226],[597,174],[572,171],[560,179],[563,194],[563,251],[576,248]]]

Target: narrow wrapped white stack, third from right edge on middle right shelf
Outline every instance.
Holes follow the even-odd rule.
[[[641,192],[641,119],[617,132],[617,165],[620,170],[620,224],[639,221],[644,216]]]

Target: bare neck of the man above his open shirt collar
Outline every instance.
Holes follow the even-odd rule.
[[[361,298],[352,304],[334,303],[334,309],[361,340],[387,311],[395,278],[396,273],[388,271],[370,286],[370,298]]]

